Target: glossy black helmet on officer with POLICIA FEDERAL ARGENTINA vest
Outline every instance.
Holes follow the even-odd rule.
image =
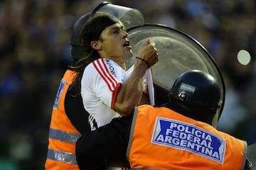
[[[169,93],[169,103],[183,108],[183,115],[205,123],[213,121],[220,106],[220,87],[210,74],[194,69],[181,74]]]

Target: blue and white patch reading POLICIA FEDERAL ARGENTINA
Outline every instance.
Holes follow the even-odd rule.
[[[189,123],[156,118],[151,138],[156,145],[181,149],[223,164],[226,142],[223,138]]]

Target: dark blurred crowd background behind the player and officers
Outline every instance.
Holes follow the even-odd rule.
[[[0,1],[1,170],[44,169],[51,109],[70,62],[73,24],[100,2]],[[146,23],[165,24],[201,42],[226,86],[218,129],[249,145],[256,142],[255,0],[110,2],[137,8]],[[248,64],[238,62],[240,50],[250,54]]]

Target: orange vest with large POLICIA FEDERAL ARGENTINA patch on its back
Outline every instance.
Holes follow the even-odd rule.
[[[247,142],[169,108],[135,108],[127,157],[133,169],[243,169]]]

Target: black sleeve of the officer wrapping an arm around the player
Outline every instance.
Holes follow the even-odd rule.
[[[105,160],[126,159],[132,117],[115,118],[111,123],[82,134],[75,146],[80,170],[105,169]]]

